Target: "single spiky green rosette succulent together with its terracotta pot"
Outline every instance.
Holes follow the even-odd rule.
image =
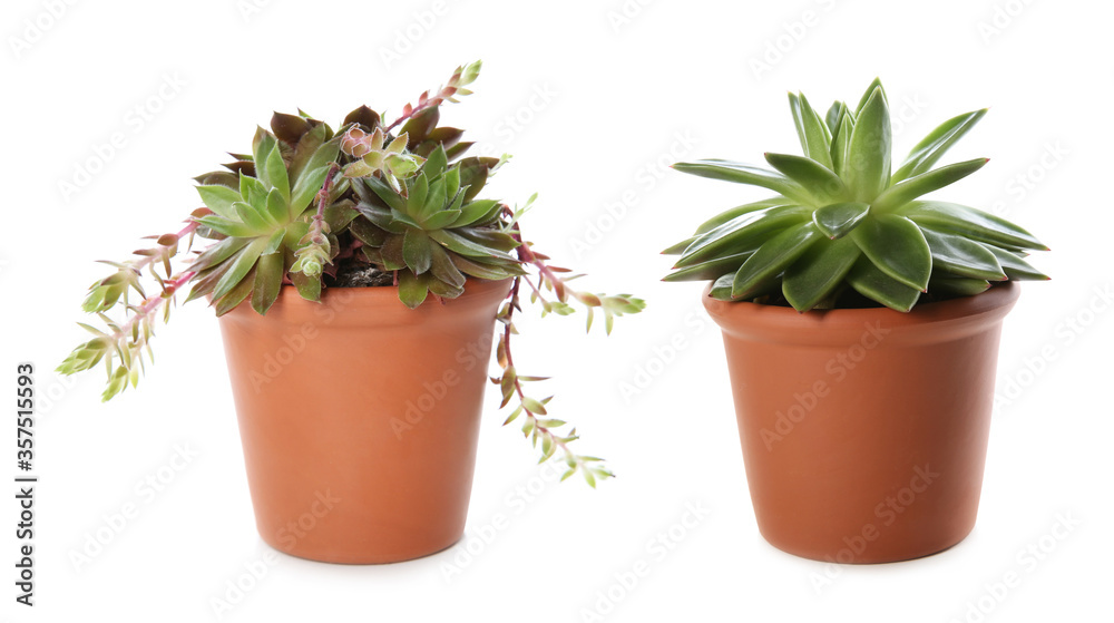
[[[665,251],[666,281],[709,280],[762,535],[814,559],[942,551],[974,527],[1001,320],[1028,232],[924,195],[985,158],[934,168],[986,110],[944,123],[891,167],[886,91],[821,117],[790,95],[804,155],[773,169],[674,165],[775,196],[729,210]]]

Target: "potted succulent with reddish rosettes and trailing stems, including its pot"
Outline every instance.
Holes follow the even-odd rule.
[[[534,197],[511,208],[480,196],[507,157],[463,157],[462,132],[439,125],[479,71],[458,68],[391,123],[368,107],[335,130],[276,113],[251,153],[196,178],[204,208],[110,263],[85,299],[105,327],[82,324],[94,337],[59,371],[104,363],[105,400],[138,382],[179,292],[215,308],[257,527],[282,552],[383,563],[459,539],[496,341],[492,381],[516,403],[505,424],[522,424],[565,477],[612,475],[570,448],[576,430],[547,413],[548,398],[527,393],[543,379],[518,373],[514,317],[524,288],[543,315],[583,304],[589,329],[593,312],[610,331],[644,303],[574,290],[521,237]],[[209,244],[189,253],[195,239]]]

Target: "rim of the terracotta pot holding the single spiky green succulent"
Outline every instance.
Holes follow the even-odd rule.
[[[711,290],[709,283],[702,294],[704,309],[725,332],[752,340],[815,344],[844,342],[871,325],[897,329],[918,341],[955,339],[1000,321],[1020,295],[1020,288],[1006,281],[974,296],[915,305],[908,312],[889,308],[798,312],[789,306],[720,301],[709,295]]]

